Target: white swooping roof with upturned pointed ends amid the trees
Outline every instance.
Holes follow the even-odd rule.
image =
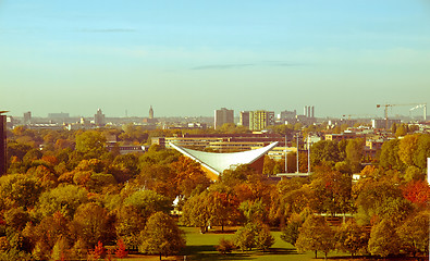
[[[273,147],[278,145],[278,141],[260,149],[233,153],[212,153],[186,149],[172,142],[169,142],[169,145],[184,156],[199,162],[201,165],[204,165],[206,169],[213,172],[214,174],[220,175],[223,171],[234,169],[239,164],[254,163],[256,160],[269,152],[269,150],[273,149]]]

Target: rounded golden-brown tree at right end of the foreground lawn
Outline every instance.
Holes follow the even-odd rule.
[[[334,249],[334,232],[323,216],[309,215],[303,226],[296,241],[298,251],[322,251],[324,257]]]

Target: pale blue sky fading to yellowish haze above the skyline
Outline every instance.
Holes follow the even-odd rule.
[[[429,98],[429,0],[0,0],[15,116],[407,115]]]

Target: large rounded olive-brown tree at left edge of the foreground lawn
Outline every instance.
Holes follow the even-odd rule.
[[[185,247],[184,233],[175,221],[163,212],[152,214],[140,234],[139,251],[168,257]]]

